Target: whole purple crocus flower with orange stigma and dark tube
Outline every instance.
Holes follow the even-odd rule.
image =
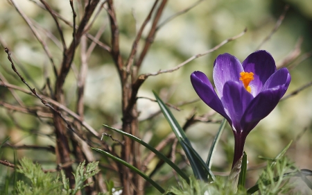
[[[245,139],[284,96],[291,75],[277,70],[268,51],[256,51],[241,62],[229,53],[214,61],[214,87],[201,71],[191,74],[191,83],[200,99],[225,117],[235,138],[234,164],[243,155]]]

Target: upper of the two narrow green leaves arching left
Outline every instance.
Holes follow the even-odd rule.
[[[110,126],[107,126],[105,124],[103,124],[103,126],[110,128],[111,130],[116,131],[117,133],[121,133],[122,135],[125,135],[127,137],[129,137],[130,139],[134,140],[135,142],[138,142],[139,144],[146,146],[147,149],[149,149],[150,151],[152,151],[153,153],[155,153],[158,158],[164,160],[164,162],[166,162],[170,167],[172,167],[173,169],[175,169],[175,171],[177,171],[177,173],[184,178],[184,180],[187,181],[187,183],[189,183],[189,177],[179,168],[177,167],[176,164],[174,164],[170,159],[166,158],[166,156],[163,153],[160,153],[159,151],[157,151],[155,148],[153,148],[152,146],[150,146],[149,144],[147,144],[146,142],[144,142],[142,139],[139,139],[138,137],[135,137],[134,135],[131,135],[130,133],[125,133],[122,130],[116,129],[116,128],[112,128]]]

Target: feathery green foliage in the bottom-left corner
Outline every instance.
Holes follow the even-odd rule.
[[[65,177],[63,171],[61,171],[62,182],[57,176],[56,178],[51,173],[44,173],[40,164],[33,164],[30,159],[23,158],[20,160],[21,166],[17,171],[30,180],[17,181],[17,187],[14,194],[19,195],[73,195],[80,189],[90,185],[90,183],[84,184],[85,180],[98,173],[98,162],[90,162],[85,167],[85,162],[78,165],[76,172],[73,174],[75,177],[75,188],[69,187],[69,179]]]

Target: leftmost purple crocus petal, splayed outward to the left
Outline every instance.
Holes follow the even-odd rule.
[[[225,113],[223,104],[218,98],[218,95],[214,91],[214,87],[212,87],[207,76],[201,71],[194,71],[191,74],[191,83],[200,99],[209,105],[210,108],[216,110],[216,112],[225,117],[225,119],[231,124],[232,122]]]

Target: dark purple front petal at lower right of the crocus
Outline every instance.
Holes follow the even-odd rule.
[[[241,118],[241,126],[243,133],[247,136],[264,117],[268,116],[275,108],[283,90],[276,87],[274,90],[266,90],[260,92],[248,105],[243,117]]]

